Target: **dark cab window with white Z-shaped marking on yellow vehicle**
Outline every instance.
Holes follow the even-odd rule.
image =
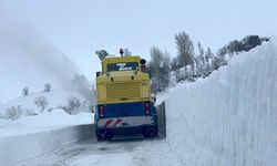
[[[106,65],[107,72],[114,71],[133,71],[138,69],[137,62],[124,62],[124,63],[109,63]]]

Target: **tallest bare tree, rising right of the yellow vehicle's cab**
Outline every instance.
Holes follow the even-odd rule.
[[[178,61],[182,66],[193,64],[194,44],[189,35],[185,32],[175,34],[175,43],[177,44]]]

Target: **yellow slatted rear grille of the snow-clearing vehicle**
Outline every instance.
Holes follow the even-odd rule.
[[[141,96],[140,83],[112,83],[106,85],[107,100],[127,100]]]

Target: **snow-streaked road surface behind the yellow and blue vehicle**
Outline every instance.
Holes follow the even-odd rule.
[[[117,166],[132,165],[133,153],[142,139],[98,143],[94,138],[68,146],[18,166]],[[151,141],[150,141],[151,142]]]

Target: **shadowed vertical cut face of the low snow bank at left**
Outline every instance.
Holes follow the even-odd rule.
[[[0,165],[12,166],[24,159],[70,146],[94,135],[92,124],[0,138]]]

